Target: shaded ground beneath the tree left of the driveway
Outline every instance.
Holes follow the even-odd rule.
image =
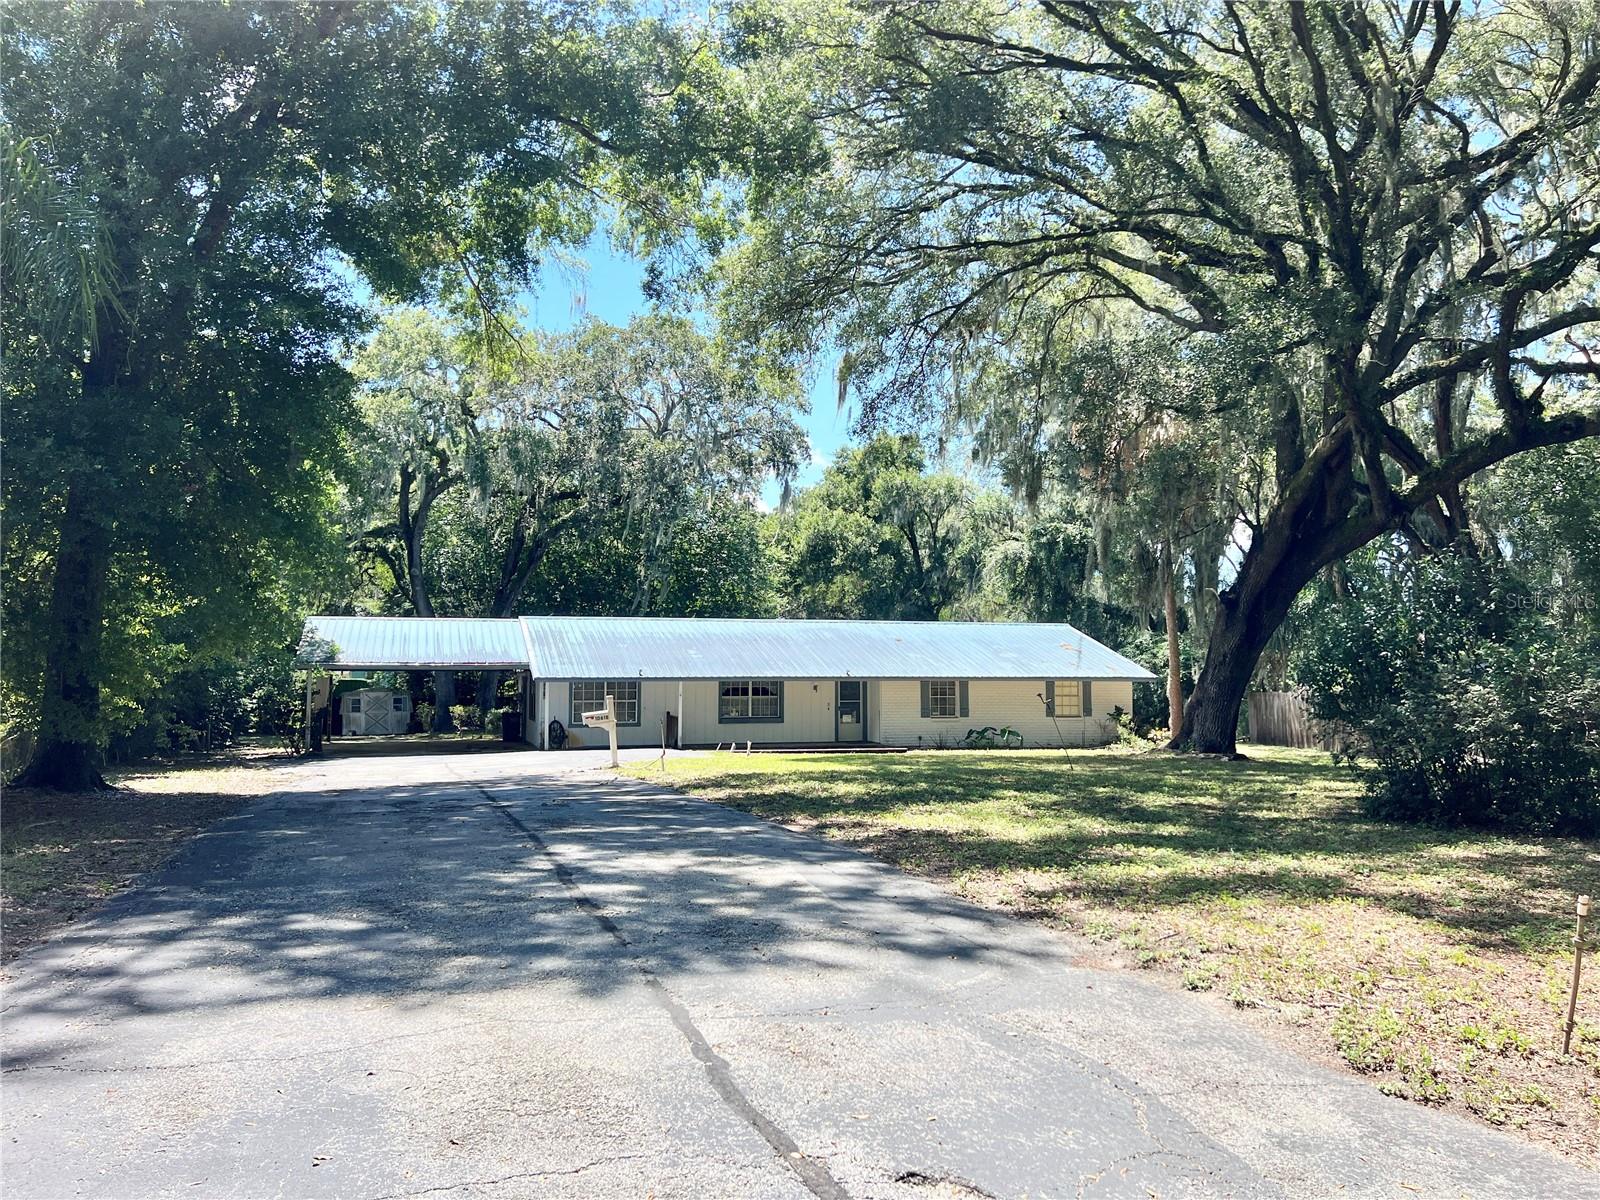
[[[0,805],[0,962],[158,867],[194,834],[270,790],[285,755],[254,747],[110,774],[110,792],[10,787]]]

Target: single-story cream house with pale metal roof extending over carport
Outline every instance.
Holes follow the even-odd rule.
[[[350,618],[306,622],[328,670],[514,670],[526,739],[603,746],[1104,746],[1155,677],[1066,624],[722,618]]]

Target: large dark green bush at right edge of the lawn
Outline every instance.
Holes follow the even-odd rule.
[[[1344,726],[1374,816],[1600,834],[1600,645],[1504,570],[1374,563],[1306,638],[1312,717]]]

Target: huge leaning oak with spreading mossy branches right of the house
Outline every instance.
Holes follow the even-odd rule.
[[[1158,320],[1213,378],[1160,405],[1226,418],[1218,454],[1262,483],[1173,739],[1232,752],[1320,570],[1397,530],[1448,542],[1475,474],[1600,434],[1597,21],[739,5],[734,45],[806,106],[819,166],[763,181],[728,312],[794,352],[843,342],[869,414],[957,422],[984,365],[1048,381],[1098,328]],[[1070,437],[1072,397],[1045,398]]]

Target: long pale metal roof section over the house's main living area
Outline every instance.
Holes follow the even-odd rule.
[[[522,626],[539,678],[1155,678],[1066,624],[525,616]]]

